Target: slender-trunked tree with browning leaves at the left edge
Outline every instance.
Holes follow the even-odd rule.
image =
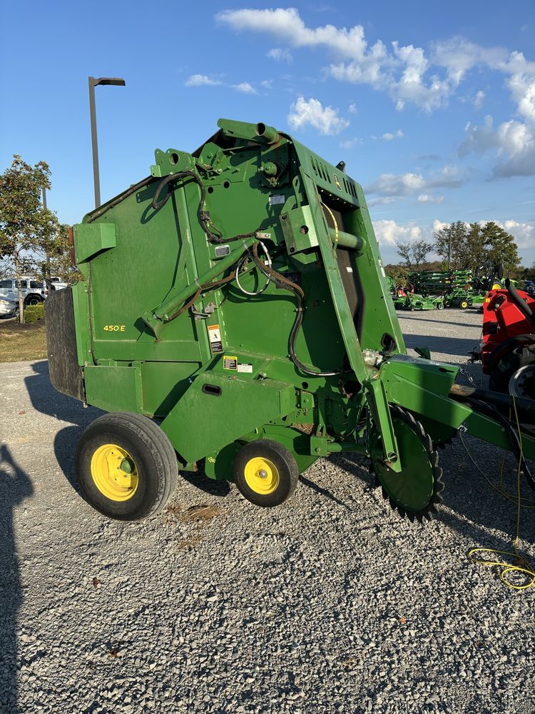
[[[50,212],[41,205],[41,193],[50,187],[50,169],[45,161],[30,166],[14,154],[11,166],[0,174],[0,258],[6,258],[14,269],[21,323],[21,274],[36,266],[35,253],[42,248],[50,221]]]

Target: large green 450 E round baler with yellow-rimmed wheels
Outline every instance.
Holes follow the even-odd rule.
[[[218,126],[193,154],[156,151],[151,175],[73,226],[85,279],[47,299],[52,383],[108,412],[76,450],[88,503],[146,518],[203,463],[277,506],[348,452],[422,521],[441,501],[437,446],[458,431],[513,451],[531,479],[511,398],[407,355],[345,164],[265,124]],[[533,420],[533,403],[516,408]]]

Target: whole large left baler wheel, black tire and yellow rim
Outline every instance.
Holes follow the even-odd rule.
[[[76,477],[86,501],[108,518],[156,516],[173,493],[178,462],[161,428],[141,414],[104,414],[83,432]]]

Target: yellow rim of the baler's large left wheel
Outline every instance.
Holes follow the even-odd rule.
[[[135,461],[117,444],[103,444],[91,457],[91,476],[103,496],[111,501],[128,501],[138,488]]]

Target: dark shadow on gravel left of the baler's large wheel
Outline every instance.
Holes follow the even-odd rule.
[[[48,361],[34,362],[31,367],[34,374],[26,377],[25,382],[32,406],[58,421],[70,422],[73,425],[58,431],[54,439],[54,453],[68,483],[78,491],[73,462],[76,444],[86,427],[103,412],[93,407],[84,408],[77,399],[56,391],[49,378]]]

